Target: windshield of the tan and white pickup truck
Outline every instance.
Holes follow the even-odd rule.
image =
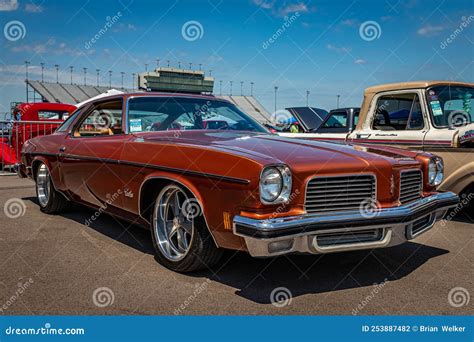
[[[459,127],[474,122],[473,87],[438,86],[427,91],[435,127]]]

